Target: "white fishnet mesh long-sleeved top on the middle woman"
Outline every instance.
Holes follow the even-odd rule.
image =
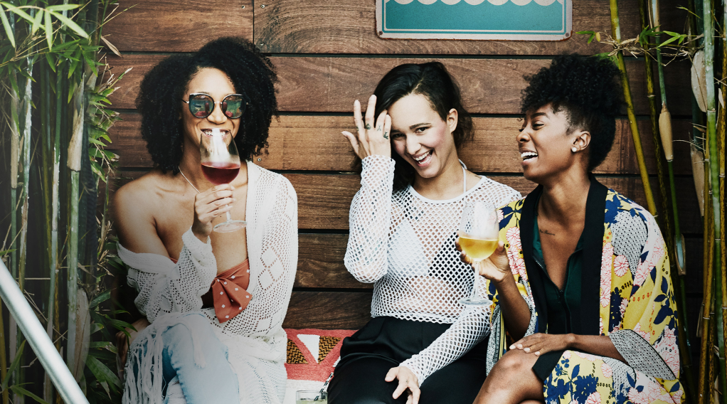
[[[429,347],[401,363],[421,385],[490,330],[489,308],[459,304],[475,283],[473,268],[459,260],[454,247],[462,210],[468,201],[499,207],[521,195],[482,177],[457,198],[432,201],[413,187],[392,194],[393,178],[393,159],[364,158],[361,189],[351,202],[345,265],[357,280],[375,283],[371,317],[451,324]],[[486,296],[482,278],[476,278],[479,293]]]

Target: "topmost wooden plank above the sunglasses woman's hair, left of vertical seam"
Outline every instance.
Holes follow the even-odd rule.
[[[252,0],[119,0],[118,4],[119,11],[126,11],[104,25],[103,33],[121,52],[194,52],[222,36],[252,41]]]

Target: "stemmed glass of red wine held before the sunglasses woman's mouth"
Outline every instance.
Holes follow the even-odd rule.
[[[220,129],[202,132],[199,142],[202,174],[214,185],[229,184],[240,172],[240,155],[232,134]],[[227,222],[214,226],[217,233],[230,233],[241,230],[247,225],[244,220],[233,220],[227,212]]]

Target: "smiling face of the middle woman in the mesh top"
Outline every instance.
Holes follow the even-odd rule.
[[[457,110],[450,110],[444,121],[427,97],[409,94],[394,102],[388,113],[394,150],[419,177],[437,177],[449,164],[457,163],[452,136],[457,128]]]

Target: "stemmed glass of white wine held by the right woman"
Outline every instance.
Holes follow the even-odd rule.
[[[462,211],[462,222],[459,224],[459,246],[462,251],[476,263],[487,259],[497,249],[499,222],[497,210],[492,203],[485,201],[470,201]],[[477,269],[475,268],[475,283],[472,286],[472,296],[459,301],[461,304],[482,306],[491,301],[477,294]]]

